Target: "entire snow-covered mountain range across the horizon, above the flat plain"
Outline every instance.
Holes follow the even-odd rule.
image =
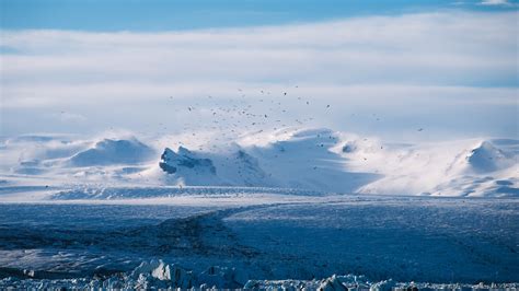
[[[245,186],[324,193],[518,196],[519,141],[471,139],[420,144],[383,142],[330,129],[284,128],[160,142],[65,137],[7,139],[4,184]],[[15,156],[15,158],[14,158]],[[4,159],[5,158],[5,159]],[[5,162],[3,162],[5,161]]]

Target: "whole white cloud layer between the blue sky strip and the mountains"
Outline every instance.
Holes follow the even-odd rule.
[[[108,120],[114,108],[131,116],[170,96],[185,107],[207,95],[235,97],[238,88],[246,97],[290,88],[337,106],[395,112],[410,102],[514,106],[517,18],[441,12],[165,33],[2,31],[8,49],[0,51],[11,53],[0,55],[0,106],[7,114],[66,107]],[[95,118],[83,107],[95,107]]]

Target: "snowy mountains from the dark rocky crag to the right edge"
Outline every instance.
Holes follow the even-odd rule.
[[[231,152],[197,153],[197,161],[211,165],[212,171],[203,172],[207,174],[200,175],[197,166],[192,171],[164,173],[170,181],[175,177],[175,182],[185,185],[389,195],[516,196],[518,149],[516,140],[413,146],[384,143],[328,129],[282,129],[246,136],[237,141]],[[185,148],[178,149],[178,155],[185,152]],[[176,160],[162,163],[164,167],[178,166]]]

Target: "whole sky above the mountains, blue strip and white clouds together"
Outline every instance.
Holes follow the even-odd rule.
[[[518,1],[0,4],[0,136],[207,130],[239,102],[391,140],[519,138]]]

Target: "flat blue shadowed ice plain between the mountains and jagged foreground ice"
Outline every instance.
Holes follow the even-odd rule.
[[[372,282],[519,280],[519,205],[512,198],[191,191],[152,205],[2,203],[2,272],[104,278],[162,259],[196,278],[206,271],[204,282],[211,284],[229,282],[214,273],[240,283],[334,273]],[[207,271],[211,266],[218,268]],[[232,269],[235,275],[226,275]]]

